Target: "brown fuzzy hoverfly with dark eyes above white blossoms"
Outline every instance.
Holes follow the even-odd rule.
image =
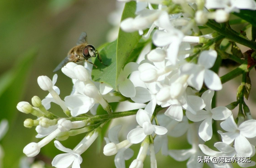
[[[88,45],[86,32],[82,32],[82,34],[78,38],[78,41],[76,42],[76,46],[73,47],[68,52],[68,56],[63,61],[61,61],[61,63],[54,69],[54,72],[60,70],[64,65],[66,65],[69,62],[76,63],[79,61],[86,61],[88,63],[91,63],[92,65],[94,65],[94,67],[97,68],[97,66],[94,63],[88,61],[90,57],[96,57],[96,56],[98,57],[99,61],[103,65],[105,65],[102,62],[102,59],[100,57],[98,50],[96,50],[93,45]]]

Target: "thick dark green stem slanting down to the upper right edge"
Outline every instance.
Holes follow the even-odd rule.
[[[238,34],[234,30],[232,30],[229,25],[225,28],[221,28],[220,24],[218,24],[217,22],[214,22],[213,20],[208,20],[206,26],[225,36],[227,39],[232,40],[233,42],[240,43],[242,45],[250,47],[251,49],[256,50],[256,42],[252,42],[241,34]]]

